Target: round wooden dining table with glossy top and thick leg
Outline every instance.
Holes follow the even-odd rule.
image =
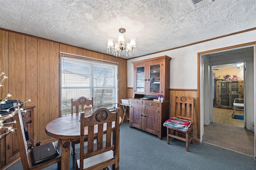
[[[62,143],[61,169],[70,169],[70,142],[80,139],[80,114],[70,114],[59,117],[48,123],[45,127],[45,132],[48,136],[60,139]],[[122,118],[119,118],[121,124]],[[115,122],[112,123],[112,127]],[[105,126],[104,126],[105,127]],[[105,129],[105,128],[104,128]],[[88,128],[84,128],[85,135],[88,135]],[[94,126],[94,133],[98,132],[98,127]]]

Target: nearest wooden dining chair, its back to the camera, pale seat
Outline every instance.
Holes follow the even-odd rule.
[[[106,107],[99,107],[86,117],[81,113],[80,141],[87,138],[88,143],[86,146],[80,143],[80,148],[75,149],[77,170],[111,169],[111,165],[113,170],[119,170],[119,117],[119,107],[115,113]],[[114,128],[112,123],[115,123]],[[84,135],[85,128],[88,128],[87,136]],[[97,143],[94,143],[95,136]]]

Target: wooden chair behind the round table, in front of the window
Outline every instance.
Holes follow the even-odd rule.
[[[93,108],[93,98],[92,98],[92,100],[89,100],[85,97],[80,97],[75,101],[73,99],[71,99],[71,114],[74,113],[74,107],[76,108],[75,113],[79,113],[81,111],[84,111],[84,106],[85,105],[87,105],[87,106],[92,105],[92,108]],[[80,110],[80,108],[81,108],[81,110]],[[75,145],[78,144],[78,143],[80,143],[80,140],[72,142],[73,167],[75,167],[75,154],[74,154]]]

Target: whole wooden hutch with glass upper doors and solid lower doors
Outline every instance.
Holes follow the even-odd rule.
[[[132,62],[134,98],[130,99],[129,127],[157,135],[160,140],[166,135],[163,123],[169,118],[170,60],[170,57],[162,56]],[[164,102],[153,101],[158,94],[163,96]]]

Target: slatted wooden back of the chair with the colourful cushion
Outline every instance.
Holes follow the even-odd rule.
[[[194,117],[194,98],[187,98],[186,96],[176,97],[176,111],[175,117],[186,119],[193,123]]]

